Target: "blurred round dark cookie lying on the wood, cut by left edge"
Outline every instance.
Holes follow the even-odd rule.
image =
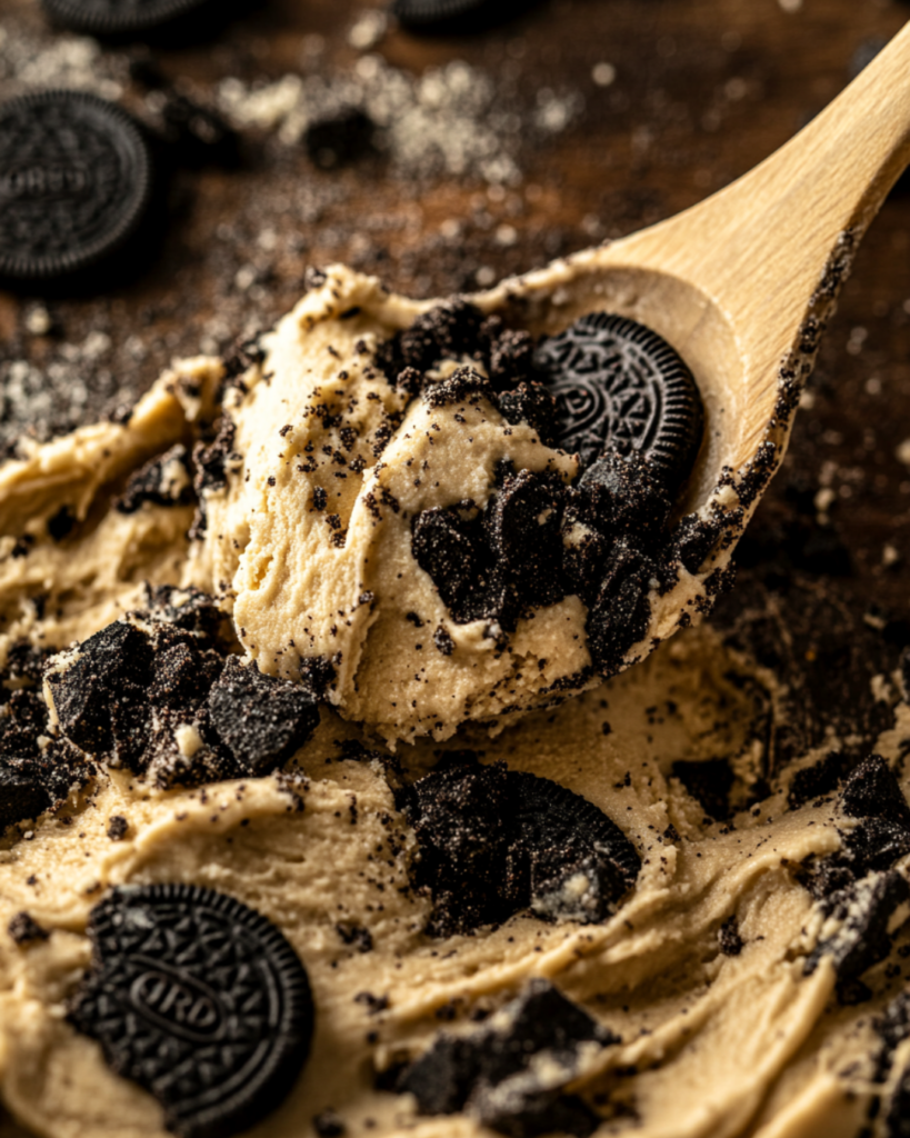
[[[122,248],[151,203],[149,148],[116,104],[44,91],[0,107],[0,278],[67,277]]]

